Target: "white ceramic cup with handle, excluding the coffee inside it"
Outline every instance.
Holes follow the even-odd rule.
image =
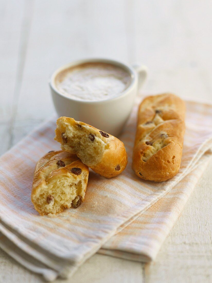
[[[55,77],[57,74],[64,69],[87,62],[110,63],[127,70],[131,76],[129,87],[117,97],[102,101],[76,100],[66,94],[60,93],[55,86]],[[58,68],[52,74],[49,85],[53,103],[59,117],[72,117],[76,121],[82,121],[103,132],[118,136],[130,115],[138,89],[143,85],[146,76],[147,68],[145,66],[134,65],[131,67],[126,63],[111,59],[83,59]]]

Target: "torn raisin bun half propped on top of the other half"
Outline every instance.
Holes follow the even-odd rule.
[[[73,118],[57,119],[55,140],[61,149],[75,153],[96,173],[111,178],[127,165],[127,153],[122,141]]]

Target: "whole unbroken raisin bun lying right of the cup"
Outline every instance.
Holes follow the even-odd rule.
[[[180,168],[185,104],[164,93],[146,97],[138,110],[132,169],[138,177],[166,181]]]

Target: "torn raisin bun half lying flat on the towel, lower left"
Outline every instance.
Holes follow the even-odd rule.
[[[89,169],[75,155],[51,151],[35,166],[31,200],[40,215],[57,214],[80,206],[85,197]]]

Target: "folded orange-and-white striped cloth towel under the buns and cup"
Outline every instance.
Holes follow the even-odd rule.
[[[120,137],[127,168],[112,179],[90,171],[84,203],[57,216],[38,215],[30,200],[35,163],[59,149],[55,118],[25,137],[0,158],[0,247],[49,281],[72,275],[97,251],[153,260],[211,156],[212,106],[186,104],[183,157],[175,177],[155,183],[132,171],[136,104]]]

